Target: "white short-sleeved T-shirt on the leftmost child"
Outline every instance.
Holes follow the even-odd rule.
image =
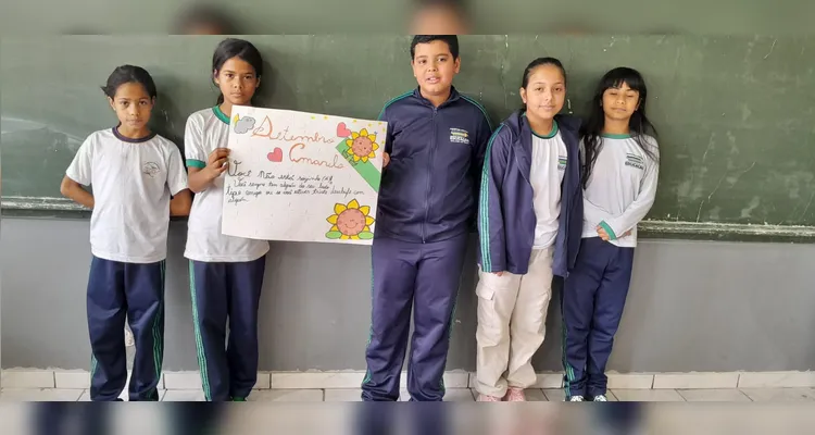
[[[91,253],[125,263],[166,259],[170,199],[187,188],[181,152],[153,134],[129,139],[116,128],[88,136],[65,172],[91,186]]]

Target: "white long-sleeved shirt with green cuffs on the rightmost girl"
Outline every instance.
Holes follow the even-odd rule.
[[[629,135],[605,135],[601,139],[584,192],[582,237],[597,237],[601,225],[610,236],[617,237],[612,244],[634,248],[637,224],[654,203],[660,167]],[[643,136],[643,141],[659,157],[656,140]],[[629,229],[631,234],[623,236]]]

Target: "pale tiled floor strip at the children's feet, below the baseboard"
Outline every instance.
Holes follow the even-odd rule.
[[[251,401],[308,402],[360,401],[360,389],[258,389]],[[161,390],[163,401],[202,401],[203,393],[196,389]],[[477,393],[469,388],[449,388],[446,401],[474,401]],[[613,389],[609,400],[615,401],[763,401],[763,402],[815,402],[815,388],[724,388],[724,389]],[[127,394],[122,394],[127,400]],[[563,401],[563,389],[527,389],[528,401]],[[66,388],[4,388],[0,390],[0,401],[87,401],[87,389]],[[409,400],[408,391],[402,391],[400,400]]]

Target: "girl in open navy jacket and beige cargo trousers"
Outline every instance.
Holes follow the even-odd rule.
[[[582,229],[579,121],[559,115],[566,73],[541,58],[524,71],[524,109],[492,135],[478,212],[479,401],[524,401],[536,382],[553,275],[574,265]]]

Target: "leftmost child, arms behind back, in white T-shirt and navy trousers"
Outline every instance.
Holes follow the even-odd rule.
[[[125,319],[136,341],[130,401],[159,400],[170,216],[189,213],[181,152],[151,132],[158,95],[142,67],[123,65],[102,88],[118,125],[88,136],[60,191],[92,210],[88,277],[90,399],[118,400],[127,382]],[[92,186],[92,194],[83,186]]]

